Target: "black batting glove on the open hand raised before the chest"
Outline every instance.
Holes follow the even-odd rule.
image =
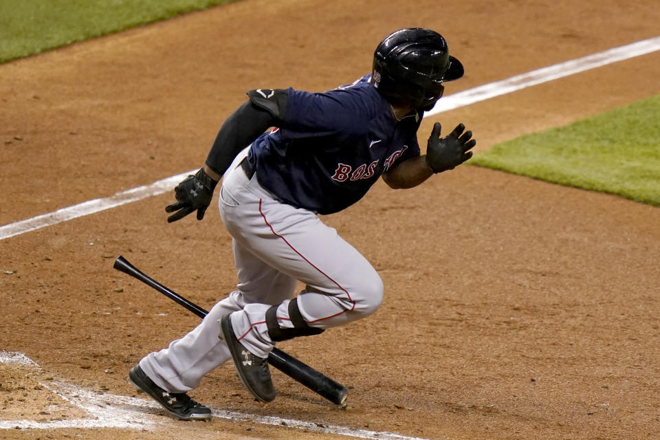
[[[440,137],[441,125],[436,122],[428,138],[426,147],[426,165],[431,168],[433,173],[442,173],[446,170],[453,170],[467,159],[472,157],[470,148],[476,145],[476,140],[470,140],[472,131],[463,133],[465,126],[458,124],[454,131]]]

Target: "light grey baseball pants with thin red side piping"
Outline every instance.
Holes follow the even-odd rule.
[[[266,358],[274,347],[265,312],[277,309],[278,324],[294,327],[288,312],[296,281],[305,284],[298,309],[310,327],[326,329],[373,313],[383,298],[380,276],[369,261],[314,214],[278,201],[256,175],[251,179],[239,154],[223,177],[219,210],[232,234],[238,284],[199,326],[173,341],[167,349],[150,353],[140,366],[162,388],[183,393],[201,378],[230,360],[218,338],[219,320],[232,314],[234,333],[246,349]]]

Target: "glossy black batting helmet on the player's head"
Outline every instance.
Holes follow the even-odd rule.
[[[443,36],[430,29],[397,30],[373,54],[371,82],[392,104],[431,109],[442,96],[442,83],[461,76],[463,65],[449,55]]]

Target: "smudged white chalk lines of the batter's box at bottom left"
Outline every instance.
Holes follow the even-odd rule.
[[[16,364],[39,369],[39,365],[36,364],[36,362],[17,351],[0,351],[0,364]],[[139,399],[137,397],[113,395],[109,393],[96,393],[62,381],[52,381],[49,383],[40,382],[39,384],[70,404],[87,412],[89,419],[52,421],[4,420],[0,421],[0,429],[123,428],[142,430],[146,428],[155,428],[158,425],[162,426],[164,423],[159,423],[158,419],[160,417],[168,417],[150,413],[153,410],[157,410],[156,412],[162,412],[164,414],[164,410],[159,404],[151,399]],[[146,412],[145,409],[150,410],[150,412]],[[218,409],[212,410],[212,415],[219,419],[227,419],[231,421],[242,421],[258,423],[260,425],[278,426],[280,428],[322,432],[324,434],[336,434],[358,439],[426,440],[419,437],[408,437],[394,432],[352,429],[345,426],[328,425],[325,423],[285,419],[283,417],[244,414],[242,412]]]

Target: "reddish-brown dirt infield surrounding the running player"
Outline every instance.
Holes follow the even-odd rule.
[[[447,37],[466,67],[452,94],[657,36],[660,22],[650,0],[354,3],[244,0],[0,65],[0,225],[196,168],[246,90],[349,83],[397,28]],[[657,78],[655,52],[435,115],[420,144],[432,122],[464,122],[481,151],[658,94]],[[124,255],[206,309],[232,290],[217,210],[168,224],[171,199],[0,241],[0,351],[37,364],[0,362],[0,426],[63,426],[0,438],[347,438],[322,432],[338,426],[419,439],[660,439],[658,208],[474,166],[413,190],[379,183],[324,220],[380,272],[382,308],[281,344],[349,386],[348,408],[277,371],[280,396],[258,404],[227,364],[192,396],[256,418],[188,423],[141,406],[126,374],[198,318],[112,270]],[[116,426],[135,425],[67,425],[104,420],[76,405],[83,391],[108,414],[132,405]]]

